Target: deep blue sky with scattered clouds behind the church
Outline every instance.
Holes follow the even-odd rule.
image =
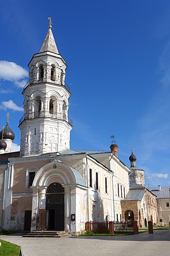
[[[131,145],[146,186],[170,185],[170,2],[2,1],[0,126],[20,143],[28,63],[52,31],[68,68],[71,149],[109,151],[130,166]]]

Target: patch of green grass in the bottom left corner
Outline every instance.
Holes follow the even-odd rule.
[[[19,256],[20,247],[13,243],[0,240],[0,255],[3,256]]]

